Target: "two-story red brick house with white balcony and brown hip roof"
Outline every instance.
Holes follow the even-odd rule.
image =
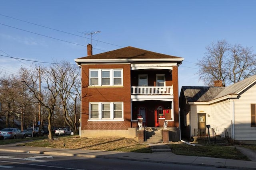
[[[143,127],[163,128],[180,140],[178,66],[184,60],[134,47],[76,59],[81,68],[81,137],[137,137]],[[161,113],[163,118],[160,118]],[[138,118],[141,116],[141,118]]]

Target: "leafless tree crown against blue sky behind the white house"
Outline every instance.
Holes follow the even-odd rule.
[[[196,64],[199,66],[197,74],[208,86],[212,86],[214,80],[222,80],[226,86],[255,74],[255,57],[252,48],[232,46],[220,40],[206,47],[204,57]]]

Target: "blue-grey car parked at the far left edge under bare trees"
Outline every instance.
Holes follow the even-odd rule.
[[[0,131],[0,134],[4,135],[4,138],[6,139],[26,138],[24,132],[14,127],[6,127]]]

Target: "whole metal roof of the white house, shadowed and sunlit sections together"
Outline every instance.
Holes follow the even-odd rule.
[[[239,95],[256,82],[256,75],[227,87],[182,86],[187,102],[209,102],[227,95]]]

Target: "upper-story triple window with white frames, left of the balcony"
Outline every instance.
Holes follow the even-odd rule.
[[[122,69],[90,69],[90,86],[122,86]]]

